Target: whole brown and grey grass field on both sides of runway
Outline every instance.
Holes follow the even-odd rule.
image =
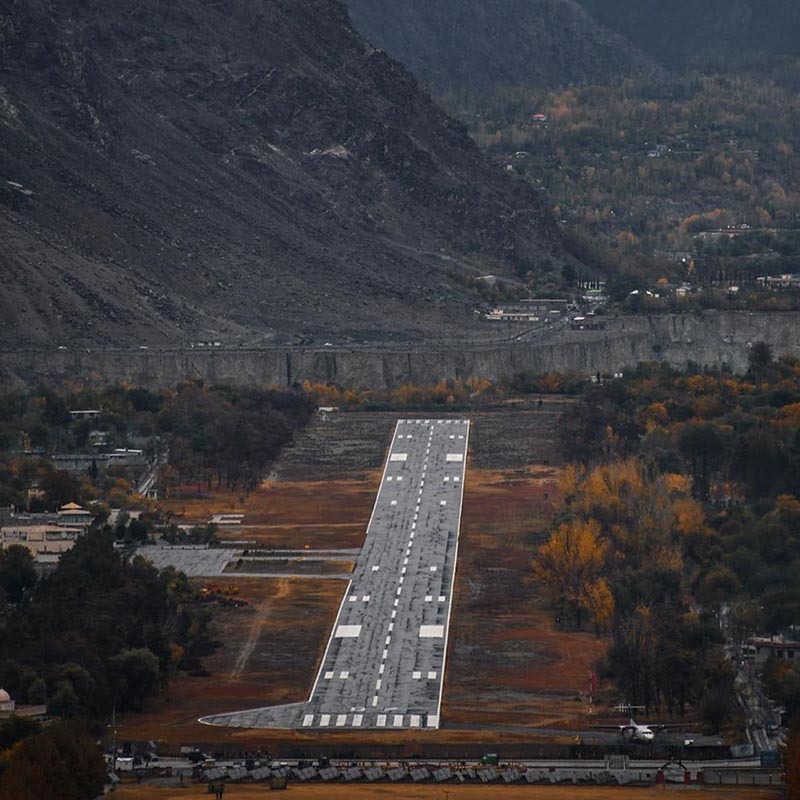
[[[546,404],[543,410],[469,415],[473,425],[444,730],[422,737],[402,731],[319,734],[199,725],[199,716],[306,699],[345,588],[335,580],[238,578],[230,572],[221,583],[235,582],[251,605],[216,612],[221,646],[205,659],[208,674],[173,680],[153,703],[152,713],[124,720],[121,736],[171,744],[237,742],[253,748],[279,742],[311,747],[315,741],[352,746],[374,739],[413,748],[421,738],[532,741],[538,737],[503,727],[579,725],[587,713],[581,697],[587,671],[604,642],[591,634],[554,630],[530,581],[533,551],[557,502],[557,420],[565,407]],[[241,528],[222,529],[225,539],[308,550],[310,557],[315,549],[358,547],[380,480],[384,446],[396,419],[406,416],[418,415],[340,414],[315,420],[282,456],[270,480],[241,504],[230,493],[216,501],[212,493],[170,502],[175,511],[198,521],[214,511],[243,512]]]

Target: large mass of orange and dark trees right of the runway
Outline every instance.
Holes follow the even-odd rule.
[[[587,389],[561,431],[574,466],[536,575],[561,615],[610,633],[630,702],[718,723],[722,607],[738,640],[800,622],[800,360],[757,343],[739,377],[644,364]],[[768,677],[796,713],[800,668]]]

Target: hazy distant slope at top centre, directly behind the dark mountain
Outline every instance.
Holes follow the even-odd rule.
[[[347,0],[376,45],[440,89],[559,86],[658,67],[573,0]]]

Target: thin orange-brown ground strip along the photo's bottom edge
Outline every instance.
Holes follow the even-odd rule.
[[[231,798],[263,797],[269,791],[266,786],[236,786],[225,789],[225,800]],[[291,785],[287,796],[303,800],[379,800],[379,798],[403,798],[403,800],[483,800],[485,797],[498,797],[502,800],[656,800],[671,797],[691,798],[692,800],[775,800],[780,791],[763,789],[748,790],[740,787],[724,789],[700,789],[696,786],[682,787],[604,787],[604,786],[313,786]],[[186,786],[179,789],[161,789],[153,786],[123,785],[117,788],[114,797],[119,800],[194,800],[206,798],[205,785]]]

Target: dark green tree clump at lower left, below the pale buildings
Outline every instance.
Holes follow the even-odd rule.
[[[18,702],[65,718],[141,710],[210,651],[208,614],[186,577],[125,561],[113,541],[86,534],[39,580],[27,549],[0,550],[0,685]]]

